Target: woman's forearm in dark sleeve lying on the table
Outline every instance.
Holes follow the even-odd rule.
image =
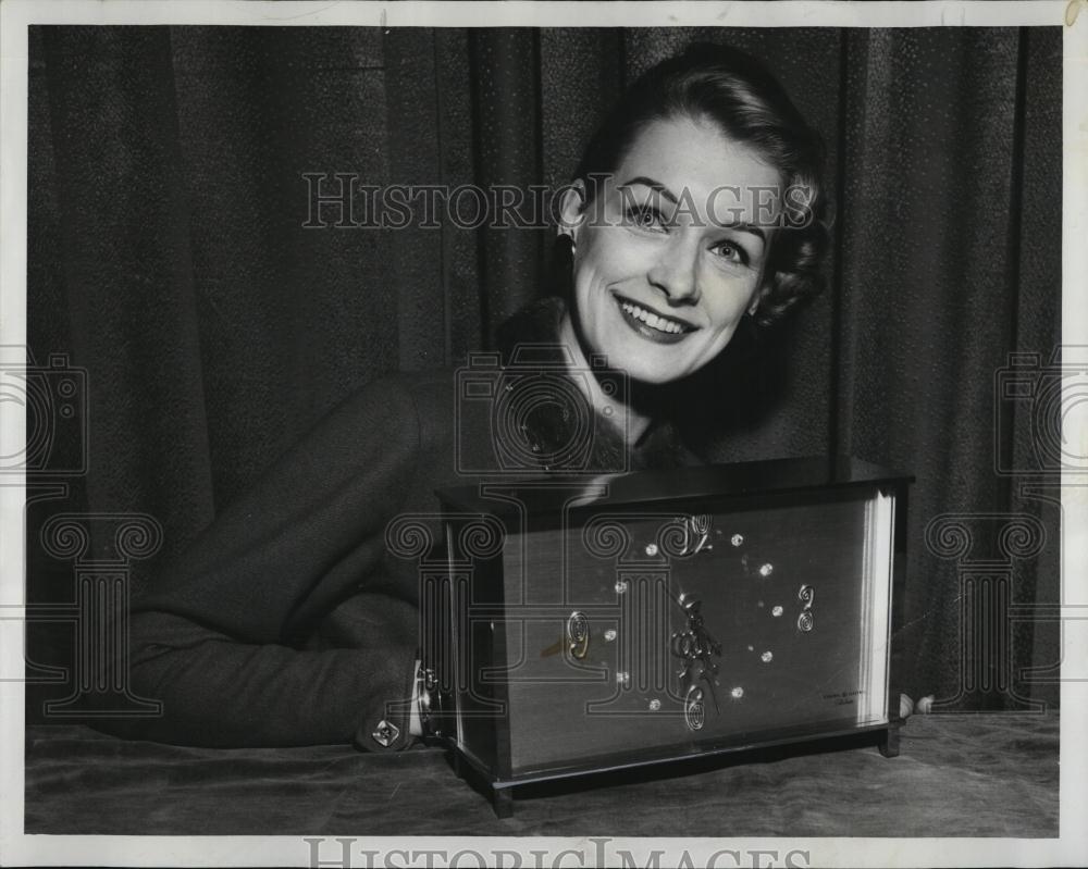
[[[132,646],[136,693],[164,710],[113,728],[122,735],[220,747],[407,744],[407,716],[386,706],[410,695],[415,644],[298,650],[152,611],[133,619]],[[382,721],[399,731],[388,745],[373,735]]]

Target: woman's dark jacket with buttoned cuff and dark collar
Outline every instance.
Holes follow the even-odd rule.
[[[482,470],[502,464],[517,477],[565,470],[547,462],[577,413],[557,414],[555,401],[535,409],[512,401],[512,427],[495,413],[511,392],[540,392],[540,376],[516,376],[512,347],[554,342],[560,313],[549,301],[515,320],[505,368],[366,386],[224,510],[134,603],[131,683],[162,700],[164,712],[114,732],[191,745],[354,741],[380,749],[371,734],[386,720],[399,732],[388,747],[403,747],[408,728],[390,704],[410,694],[419,594],[416,564],[387,551],[386,527],[416,513],[437,529],[434,489]],[[489,398],[486,388],[467,386],[489,377],[506,392]],[[592,431],[589,451],[560,461],[610,471],[622,470],[617,461],[640,468],[693,458],[667,425],[635,450],[596,415]],[[516,448],[496,458],[503,438]]]

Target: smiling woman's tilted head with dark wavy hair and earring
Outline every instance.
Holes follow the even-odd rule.
[[[714,360],[745,314],[770,323],[817,293],[823,151],[742,52],[695,45],[645,73],[564,201],[573,298],[560,336],[572,357],[601,353],[635,384],[668,384]],[[630,397],[638,439],[658,402]]]

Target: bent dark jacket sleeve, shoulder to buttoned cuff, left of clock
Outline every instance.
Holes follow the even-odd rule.
[[[415,402],[387,382],[289,450],[134,603],[131,684],[163,712],[111,729],[188,745],[404,747],[417,589],[391,579],[384,534],[419,450]],[[348,598],[363,603],[362,647],[310,648]]]

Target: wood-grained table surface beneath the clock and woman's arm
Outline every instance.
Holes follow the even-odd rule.
[[[440,748],[186,748],[79,725],[26,740],[27,833],[1058,835],[1054,711],[915,716],[895,758],[851,738],[535,785],[503,820]]]

